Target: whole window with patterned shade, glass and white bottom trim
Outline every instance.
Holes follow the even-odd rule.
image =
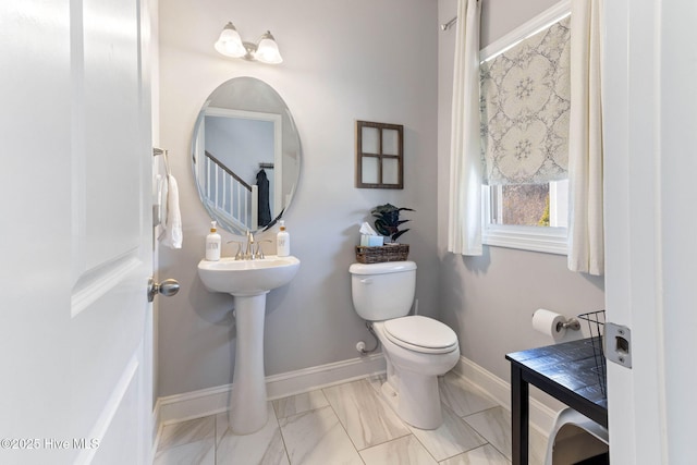
[[[484,244],[566,254],[568,120],[563,112],[570,89],[568,64],[562,61],[567,42],[562,42],[568,37],[568,11],[563,2],[480,52],[489,184],[482,186]],[[554,53],[558,60],[546,62]],[[547,100],[553,105],[541,103]]]

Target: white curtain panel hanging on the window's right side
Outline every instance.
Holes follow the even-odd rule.
[[[568,269],[604,271],[602,220],[602,0],[572,0]]]

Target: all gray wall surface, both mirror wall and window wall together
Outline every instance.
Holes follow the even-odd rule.
[[[554,3],[484,1],[482,46]],[[232,380],[232,297],[208,293],[196,276],[209,220],[188,147],[201,103],[234,76],[273,86],[303,144],[301,184],[285,216],[292,253],[303,264],[289,286],[269,294],[267,374],[356,356],[356,341],[368,336],[351,304],[347,267],[357,224],[386,201],[417,210],[406,217],[414,221],[403,237],[419,266],[419,311],[448,322],[463,355],[503,379],[506,352],[551,342],[531,329],[536,308],[567,316],[603,308],[603,280],[567,271],[563,256],[499,247],[485,247],[476,258],[445,252],[454,29],[441,33],[438,24],[455,10],[456,0],[272,0],[235,8],[227,0],[162,2],[160,145],[171,150],[180,181],[185,237],[182,250],[159,256],[160,276],[182,283],[178,296],[160,299],[159,395]],[[285,62],[268,66],[218,56],[212,42],[228,20],[245,40],[271,29]],[[357,119],[404,124],[404,191],[354,187]]]

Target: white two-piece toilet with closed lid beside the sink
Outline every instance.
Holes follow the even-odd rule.
[[[424,316],[406,316],[414,301],[416,264],[353,264],[353,306],[372,322],[388,365],[382,394],[398,415],[420,429],[442,423],[438,376],[460,357],[457,335],[448,326]]]

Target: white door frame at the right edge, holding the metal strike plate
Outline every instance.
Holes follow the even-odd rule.
[[[606,2],[607,317],[632,330],[608,363],[610,458],[693,464],[697,438],[697,4]]]

